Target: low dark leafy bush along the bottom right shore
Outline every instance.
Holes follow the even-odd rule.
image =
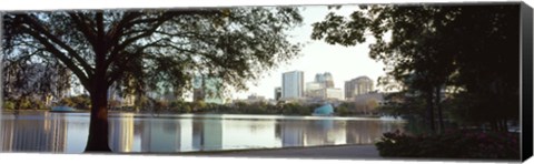
[[[454,131],[435,135],[385,133],[376,143],[380,156],[437,158],[520,158],[518,134]]]

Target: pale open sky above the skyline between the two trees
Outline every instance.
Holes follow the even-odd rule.
[[[326,6],[308,6],[301,10],[304,18],[303,25],[295,28],[289,32],[290,41],[306,43],[301,49],[301,55],[289,61],[289,63],[279,65],[278,68],[264,72],[264,78],[248,83],[248,91],[234,93],[233,99],[246,99],[250,94],[265,96],[266,99],[274,99],[274,90],[276,86],[281,86],[281,74],[289,71],[303,71],[304,81],[314,81],[315,74],[330,72],[334,79],[335,88],[343,91],[345,81],[349,81],[360,75],[367,75],[375,82],[378,76],[385,75],[383,71],[384,64],[380,61],[375,61],[369,58],[369,43],[357,44],[355,47],[332,45],[320,40],[312,40],[312,24],[324,20],[326,14],[330,11],[336,11],[338,14],[348,16],[357,6],[344,6],[339,10],[328,10]]]

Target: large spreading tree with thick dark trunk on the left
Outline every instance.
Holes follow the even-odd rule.
[[[286,31],[294,8],[36,11],[3,16],[6,58],[38,57],[68,68],[90,94],[88,151],[108,146],[108,89],[191,86],[198,74],[246,89],[248,80],[296,57]]]

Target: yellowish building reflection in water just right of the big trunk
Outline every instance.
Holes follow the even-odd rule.
[[[122,113],[120,117],[110,119],[110,148],[113,152],[134,150],[134,114]]]

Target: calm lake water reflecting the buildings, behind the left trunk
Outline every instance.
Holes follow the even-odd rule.
[[[234,114],[113,113],[109,117],[115,152],[191,152],[339,144],[373,144],[403,121]],[[81,153],[88,113],[3,113],[1,152]]]

